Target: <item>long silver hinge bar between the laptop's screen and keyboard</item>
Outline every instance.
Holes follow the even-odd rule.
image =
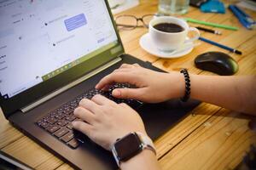
[[[102,65],[101,67],[97,68],[96,70],[90,71],[88,74],[84,75],[84,77],[80,77],[76,81],[70,82],[69,84],[67,84],[63,88],[60,88],[60,89],[56,90],[55,92],[53,92],[51,94],[48,94],[44,98],[38,99],[36,102],[34,102],[34,103],[30,104],[30,105],[26,105],[26,107],[21,108],[21,111],[23,113],[26,113],[27,111],[31,111],[33,108],[37,107],[38,105],[41,105],[45,101],[54,98],[56,95],[61,94],[62,92],[66,91],[69,88],[73,88],[74,86],[76,86],[80,82],[84,82],[84,80],[89,79],[90,77],[95,76],[97,73],[99,73],[99,72],[107,69],[108,67],[118,63],[120,60],[122,60],[120,57],[117,57],[116,59],[111,60],[110,62],[108,62],[105,65]]]

